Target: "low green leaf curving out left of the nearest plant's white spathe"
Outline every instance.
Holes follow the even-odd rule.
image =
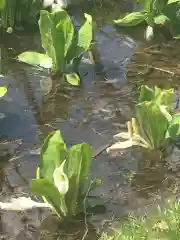
[[[60,208],[61,195],[57,187],[48,179],[33,179],[30,183],[30,190],[33,194],[45,196],[57,214],[63,215]]]

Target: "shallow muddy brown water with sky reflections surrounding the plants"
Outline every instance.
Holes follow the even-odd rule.
[[[114,134],[125,131],[142,83],[173,86],[178,93],[180,43],[162,38],[145,43],[142,36],[142,30],[132,37],[104,24],[96,32],[95,62],[101,68],[85,56],[80,66],[81,85],[62,86],[53,95],[49,95],[47,72],[14,60],[24,50],[41,50],[38,34],[16,33],[5,39],[0,85],[9,89],[0,101],[0,138],[8,142],[0,146],[0,201],[30,196],[28,182],[35,177],[42,141],[49,132],[60,129],[68,146],[80,142],[92,145],[90,177],[104,181],[93,195],[107,210],[90,218],[93,225],[76,220],[68,223],[68,228],[59,226],[48,211],[1,211],[2,237],[58,239],[61,234],[61,239],[82,239],[88,227],[86,239],[97,239],[95,229],[99,232],[116,218],[178,196],[177,148],[169,149],[165,160],[158,152],[139,148],[109,154],[102,151]],[[178,110],[178,94],[175,107]]]

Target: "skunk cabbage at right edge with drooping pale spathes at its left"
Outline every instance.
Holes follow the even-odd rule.
[[[107,151],[138,145],[149,149],[162,149],[180,136],[180,114],[173,111],[173,89],[154,89],[142,86],[136,117],[127,123],[128,132],[114,136],[116,142]]]

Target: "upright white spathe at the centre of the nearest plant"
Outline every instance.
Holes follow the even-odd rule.
[[[64,196],[69,189],[69,180],[64,173],[64,164],[66,160],[61,164],[59,168],[56,168],[53,173],[54,184],[56,185],[59,193]]]

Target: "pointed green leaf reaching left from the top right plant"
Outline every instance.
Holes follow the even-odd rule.
[[[147,12],[133,12],[128,15],[126,15],[124,18],[114,20],[115,24],[121,25],[121,26],[136,26],[139,23],[145,21],[147,18]]]

